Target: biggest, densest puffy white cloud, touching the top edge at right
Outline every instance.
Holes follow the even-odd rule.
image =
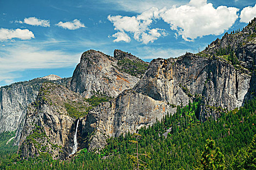
[[[215,9],[207,0],[191,0],[186,5],[166,9],[160,16],[184,40],[191,41],[204,35],[224,33],[238,18],[237,11],[226,6]]]

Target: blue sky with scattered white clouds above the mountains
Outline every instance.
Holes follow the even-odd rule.
[[[90,49],[145,61],[201,51],[254,17],[255,0],[0,0],[0,86],[70,77]]]

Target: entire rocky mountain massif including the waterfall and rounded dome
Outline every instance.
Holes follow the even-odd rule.
[[[200,128],[201,123],[215,122],[222,114],[235,115],[256,96],[255,28],[256,19],[197,54],[151,63],[120,50],[113,57],[85,51],[70,83],[66,87],[42,84],[36,101],[24,112],[21,157],[50,154],[66,159],[81,149],[100,153],[111,137],[121,140],[122,134],[145,127],[159,129],[163,119],[172,119],[168,131],[161,130],[166,130],[167,137],[168,133],[177,135],[181,127],[184,131],[191,124]],[[249,118],[254,112],[246,114]],[[242,117],[236,123],[247,118]],[[225,115],[222,120],[228,121]],[[231,126],[218,125],[228,136]],[[255,125],[246,126],[253,129]]]

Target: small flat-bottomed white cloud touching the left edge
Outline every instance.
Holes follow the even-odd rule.
[[[22,40],[26,40],[26,39],[31,39],[31,38],[35,38],[35,35],[29,31],[28,29],[5,29],[5,28],[0,28],[0,41],[6,41],[6,40],[10,40],[13,38],[19,38]]]

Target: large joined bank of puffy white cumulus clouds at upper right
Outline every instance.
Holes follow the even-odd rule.
[[[159,19],[170,24],[185,41],[193,41],[204,35],[219,35],[228,30],[238,18],[238,9],[219,6],[214,8],[207,0],[190,0],[181,6],[158,9],[153,7],[138,16],[108,16],[115,30],[133,34],[134,39],[144,44],[165,36],[163,29],[150,29]]]

